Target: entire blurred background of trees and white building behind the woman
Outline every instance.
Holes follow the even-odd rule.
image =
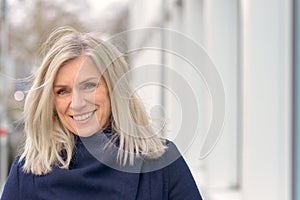
[[[122,33],[123,49],[155,43],[186,54],[205,52],[225,92],[223,128],[205,158],[200,157],[204,137],[198,135],[203,136],[200,132],[209,127],[212,117],[205,87],[208,77],[193,78],[189,64],[165,51],[131,54],[130,65],[132,69],[145,64],[171,66],[185,80],[192,80],[192,88],[200,94],[196,100],[202,129],[183,155],[204,199],[300,200],[299,1],[1,0],[1,186],[24,139],[20,117],[26,77],[38,67],[39,48],[51,30],[68,25],[100,32],[103,38]],[[145,27],[168,31],[150,34]],[[130,31],[140,29],[144,31],[139,34]],[[187,46],[186,41],[197,47]],[[162,83],[172,80],[164,68],[155,73]],[[131,81],[139,79],[133,70]],[[172,94],[162,87],[145,87],[140,92],[146,106],[165,107],[166,136],[176,138],[172,130],[181,119]],[[195,107],[189,105],[189,109]]]

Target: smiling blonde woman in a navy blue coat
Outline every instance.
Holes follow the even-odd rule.
[[[151,129],[116,48],[60,28],[42,53],[2,200],[201,199],[174,144]]]

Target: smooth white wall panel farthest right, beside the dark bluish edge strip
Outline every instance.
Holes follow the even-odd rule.
[[[243,199],[291,199],[292,1],[243,0]]]

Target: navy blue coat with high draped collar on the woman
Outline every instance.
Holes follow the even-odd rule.
[[[17,157],[1,200],[202,199],[186,162],[172,142],[168,142],[168,150],[161,159],[150,164],[145,160],[136,162],[137,173],[132,168],[116,169],[105,160],[104,164],[93,156],[95,152],[89,151],[89,145],[75,138],[68,170],[54,167],[52,172],[40,176],[24,173],[24,161],[19,162]],[[169,160],[169,163],[162,165],[162,160]]]

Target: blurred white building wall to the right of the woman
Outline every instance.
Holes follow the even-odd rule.
[[[205,199],[292,199],[292,1],[166,2],[169,11],[166,27],[204,47],[220,73],[226,95],[222,137],[212,153],[199,160],[204,139],[200,132],[207,128],[211,117],[207,88],[202,80],[198,83],[193,80],[193,70],[187,63],[166,55],[165,64],[192,80],[192,84],[198,84],[197,93],[202,97],[199,119],[203,130],[184,151],[184,156]],[[131,28],[159,26],[161,3],[132,1]],[[158,35],[152,39],[147,34],[143,37],[161,42]],[[165,45],[184,53],[196,53],[176,37],[166,37]],[[139,62],[151,62],[152,58],[159,63],[161,57],[158,54],[140,57]],[[165,78],[172,80],[168,74]],[[161,94],[157,88],[156,92]],[[157,95],[154,101],[158,103],[160,98]],[[171,111],[169,116],[180,114],[170,96],[166,95],[164,105]],[[175,125],[171,123],[169,128],[176,129],[180,119],[170,120]]]

